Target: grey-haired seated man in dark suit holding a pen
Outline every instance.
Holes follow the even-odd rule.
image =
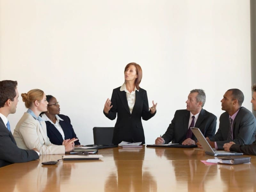
[[[212,138],[216,131],[217,117],[204,110],[205,93],[202,89],[193,89],[188,95],[187,109],[177,110],[172,123],[162,137],[157,137],[156,145],[164,143],[182,143],[183,145],[196,144],[196,137],[189,127],[201,130],[205,137]]]

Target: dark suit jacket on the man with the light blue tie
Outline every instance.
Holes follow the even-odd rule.
[[[12,163],[21,163],[38,159],[34,150],[25,150],[17,147],[12,133],[5,127],[0,117],[0,167]]]

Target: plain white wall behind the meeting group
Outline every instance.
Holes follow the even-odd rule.
[[[150,106],[158,103],[142,122],[146,143],[164,134],[194,88],[205,90],[204,109],[217,117],[229,88],[241,89],[251,110],[249,0],[0,3],[0,80],[55,96],[82,144],[93,143],[94,126],[114,126],[103,106],[129,62],[142,67]],[[12,131],[25,111],[20,97]]]

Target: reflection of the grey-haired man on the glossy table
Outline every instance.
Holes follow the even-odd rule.
[[[206,191],[208,181],[217,177],[217,165],[205,165],[200,161],[205,159],[204,151],[183,148],[177,150],[177,153],[171,153],[170,150],[156,148],[155,152],[160,158],[172,160],[170,163],[174,169],[177,186],[184,188],[187,183],[187,191]],[[179,158],[180,160],[177,160]]]

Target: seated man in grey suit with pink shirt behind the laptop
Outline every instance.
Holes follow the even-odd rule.
[[[256,120],[251,111],[241,107],[243,101],[244,94],[239,89],[229,89],[223,95],[221,109],[226,112],[220,115],[215,136],[210,140],[206,138],[212,148],[223,149],[223,145],[230,141],[243,145],[255,140]]]

